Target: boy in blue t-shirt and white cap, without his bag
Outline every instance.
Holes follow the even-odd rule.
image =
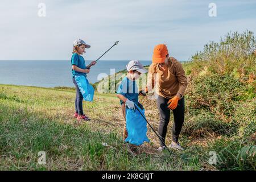
[[[139,104],[139,92],[135,80],[139,78],[141,73],[147,73],[147,69],[137,60],[131,60],[127,65],[127,75],[121,81],[117,90],[117,97],[120,100],[123,117],[125,118],[125,126],[123,127],[123,140],[128,137],[126,129],[126,106],[129,109],[135,109],[134,103]]]

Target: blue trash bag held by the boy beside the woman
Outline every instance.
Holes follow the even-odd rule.
[[[139,146],[143,142],[150,142],[150,140],[147,138],[147,122],[141,115],[141,113],[144,115],[144,109],[142,110],[138,106],[135,108],[137,109],[133,110],[126,107],[126,129],[128,137],[125,139],[125,142]],[[141,113],[139,113],[138,109]]]

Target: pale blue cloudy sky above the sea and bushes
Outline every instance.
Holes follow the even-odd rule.
[[[38,5],[46,4],[46,17]],[[217,17],[210,17],[216,3]],[[92,47],[86,60],[97,59],[119,40],[104,60],[151,60],[156,44],[188,60],[209,41],[227,32],[256,32],[256,1],[89,0],[0,2],[0,60],[69,60],[72,43]]]

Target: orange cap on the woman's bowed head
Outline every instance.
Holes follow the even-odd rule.
[[[164,63],[164,60],[166,60],[166,55],[168,55],[168,49],[165,44],[158,44],[154,48],[153,52],[153,63]]]

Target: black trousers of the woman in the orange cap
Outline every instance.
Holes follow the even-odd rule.
[[[164,143],[166,140],[167,127],[170,121],[170,113],[171,113],[171,110],[167,108],[168,101],[169,101],[168,98],[158,96],[157,105],[158,105],[158,111],[159,111],[159,117],[160,117],[158,133],[160,137],[162,137],[162,140]],[[184,123],[184,114],[185,114],[184,97],[178,101],[178,105],[174,110],[172,110],[172,114],[174,114],[174,125],[172,126],[172,141],[177,142],[179,139],[181,128]],[[164,143],[161,140],[159,140],[159,142],[161,147],[164,146]]]

